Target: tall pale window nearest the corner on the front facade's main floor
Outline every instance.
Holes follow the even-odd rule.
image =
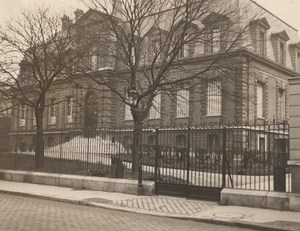
[[[207,88],[207,115],[220,116],[222,114],[222,89],[220,81],[208,83]]]

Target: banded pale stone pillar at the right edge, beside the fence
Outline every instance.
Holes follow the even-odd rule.
[[[290,160],[292,193],[300,193],[300,77],[289,79]]]

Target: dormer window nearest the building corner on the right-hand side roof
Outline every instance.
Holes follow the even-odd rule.
[[[251,22],[251,34],[255,53],[266,56],[267,53],[267,31],[271,28],[266,18]]]

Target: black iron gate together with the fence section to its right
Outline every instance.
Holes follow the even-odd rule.
[[[156,193],[218,201],[224,187],[289,191],[288,136],[286,123],[156,129]]]

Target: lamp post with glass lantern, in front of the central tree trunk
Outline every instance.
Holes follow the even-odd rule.
[[[138,92],[136,91],[136,89],[131,89],[128,92],[128,102],[131,105],[136,106],[137,104],[137,97],[138,97]],[[132,110],[132,108],[131,108]],[[139,111],[137,111],[137,109],[135,108],[134,110],[135,113],[139,113]],[[139,116],[139,115],[137,115]],[[135,120],[134,116],[133,119]],[[139,128],[139,124],[136,124],[136,122],[134,122],[134,126],[137,126],[134,128],[134,132],[140,132],[140,128]],[[140,141],[139,139],[141,139],[141,134],[134,134],[135,139],[133,140],[133,151],[134,151],[134,162],[135,162],[135,158],[138,157],[138,191],[137,194],[138,195],[142,195],[143,194],[143,187],[142,187],[142,174],[143,174],[143,169],[142,169],[142,156],[141,156],[141,151],[140,151]]]

